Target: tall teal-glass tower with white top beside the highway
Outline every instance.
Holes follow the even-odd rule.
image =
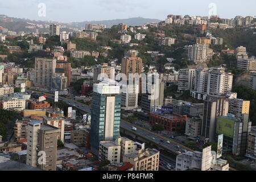
[[[121,120],[120,86],[116,82],[102,81],[93,85],[92,125],[90,143],[98,154],[100,141],[112,141],[119,137]]]

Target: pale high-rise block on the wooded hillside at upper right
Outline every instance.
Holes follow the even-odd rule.
[[[194,44],[188,47],[188,61],[190,64],[206,63],[207,49],[206,44]]]

